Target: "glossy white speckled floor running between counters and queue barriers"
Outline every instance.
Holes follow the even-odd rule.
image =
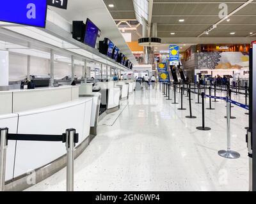
[[[227,143],[225,102],[212,103],[216,110],[205,110],[205,125],[211,131],[198,131],[202,108],[195,104],[194,94],[192,98],[197,118],[186,119],[187,98],[187,110],[180,111],[180,104],[173,105],[159,90],[134,92],[113,126],[99,126],[99,135],[76,159],[75,190],[248,191],[246,111],[232,108],[237,117],[231,120],[232,149],[241,158],[225,159],[218,156]],[[234,99],[244,102],[244,96]],[[27,190],[65,191],[65,171]]]

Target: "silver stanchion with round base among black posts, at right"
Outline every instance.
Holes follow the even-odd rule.
[[[240,154],[232,151],[231,150],[231,133],[230,133],[230,115],[231,115],[231,108],[230,108],[231,103],[228,102],[228,97],[227,97],[227,150],[220,150],[218,154],[221,157],[225,157],[228,159],[237,159],[240,157]]]

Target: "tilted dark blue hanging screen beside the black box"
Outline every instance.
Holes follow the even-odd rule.
[[[84,34],[84,44],[95,48],[97,37],[100,35],[99,28],[93,24],[93,22],[87,18]]]

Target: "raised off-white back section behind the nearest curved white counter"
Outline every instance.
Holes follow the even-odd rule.
[[[0,91],[0,115],[65,103],[79,98],[79,86]]]

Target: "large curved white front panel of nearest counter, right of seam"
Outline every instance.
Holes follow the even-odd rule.
[[[86,110],[88,109],[88,110]],[[88,136],[92,99],[79,99],[61,105],[19,113],[20,134],[61,135],[68,128],[79,133],[79,143]],[[84,115],[84,113],[88,115]],[[89,117],[89,119],[87,119]],[[17,142],[14,177],[51,163],[66,153],[61,142]]]

